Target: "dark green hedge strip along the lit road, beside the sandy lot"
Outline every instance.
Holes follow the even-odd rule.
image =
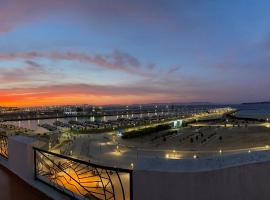
[[[149,135],[149,134],[152,134],[152,133],[165,131],[165,130],[168,130],[170,128],[171,128],[171,126],[169,124],[164,124],[164,125],[158,125],[158,126],[155,126],[155,127],[149,127],[149,128],[129,131],[129,132],[123,133],[122,138],[123,139],[129,139],[129,138],[145,136],[145,135]]]

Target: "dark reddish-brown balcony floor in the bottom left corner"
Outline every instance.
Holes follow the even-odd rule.
[[[25,183],[0,165],[0,199],[2,200],[51,200],[42,192]]]

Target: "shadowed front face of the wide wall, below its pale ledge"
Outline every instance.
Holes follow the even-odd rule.
[[[269,200],[270,162],[205,172],[134,172],[134,200]]]

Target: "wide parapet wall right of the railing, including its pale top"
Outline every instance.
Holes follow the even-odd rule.
[[[269,200],[270,152],[135,166],[134,200]]]

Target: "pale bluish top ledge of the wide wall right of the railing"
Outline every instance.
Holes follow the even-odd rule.
[[[142,159],[135,166],[135,170],[164,172],[202,172],[268,161],[270,161],[269,150],[199,159]]]

